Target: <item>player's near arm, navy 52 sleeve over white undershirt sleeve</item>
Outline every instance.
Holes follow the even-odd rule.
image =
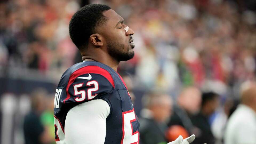
[[[111,74],[98,66],[74,71],[66,88],[64,104],[76,104],[65,120],[66,144],[102,144],[106,137],[106,118],[111,112],[108,96],[114,90]]]

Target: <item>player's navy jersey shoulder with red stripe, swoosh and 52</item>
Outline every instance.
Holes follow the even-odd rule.
[[[111,73],[110,67],[99,62],[77,63],[62,75],[56,93],[65,91],[61,102],[73,106],[93,99],[105,99],[115,89]]]

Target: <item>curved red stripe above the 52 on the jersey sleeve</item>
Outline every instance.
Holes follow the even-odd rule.
[[[88,74],[88,73],[91,73],[91,74],[100,74],[102,75],[103,77],[105,77],[110,83],[111,85],[115,88],[115,84],[114,84],[114,80],[111,76],[111,74],[99,67],[99,66],[85,66],[85,67],[82,67],[76,71],[74,71],[70,77],[69,77],[69,82],[67,84],[67,88],[66,88],[66,93],[67,93],[67,98],[63,101],[65,103],[66,100],[68,100],[70,98],[70,94],[69,94],[69,86],[75,81],[75,78],[77,78],[79,75],[82,75],[82,74]]]

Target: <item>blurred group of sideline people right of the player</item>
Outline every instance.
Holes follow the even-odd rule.
[[[256,83],[244,82],[239,103],[197,87],[185,87],[176,102],[166,93],[154,90],[142,98],[140,143],[166,144],[179,135],[196,135],[192,144],[256,143]]]

